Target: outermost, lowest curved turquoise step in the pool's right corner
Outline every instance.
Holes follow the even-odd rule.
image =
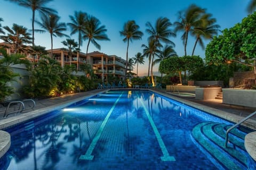
[[[223,166],[223,168],[241,169],[241,167],[238,166],[237,163],[233,162],[233,160],[230,159],[226,152],[218,149],[216,145],[213,145],[213,142],[211,142],[209,138],[205,137],[204,133],[202,133],[203,127],[211,123],[212,122],[203,122],[196,125],[192,130],[192,135],[194,139],[203,147],[204,150],[206,150],[211,156],[213,156],[216,162],[218,162],[219,165]]]

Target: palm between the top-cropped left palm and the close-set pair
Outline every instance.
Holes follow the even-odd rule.
[[[60,17],[57,15],[42,15],[41,22],[35,21],[43,30],[36,29],[35,31],[45,33],[49,32],[51,35],[51,58],[53,58],[52,47],[53,47],[53,37],[68,37],[63,31],[66,31],[66,24],[64,22],[59,22]]]

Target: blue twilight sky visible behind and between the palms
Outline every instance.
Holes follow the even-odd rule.
[[[7,25],[12,27],[13,23],[23,25],[31,30],[31,18],[32,12],[29,8],[19,6],[18,4],[11,3],[7,0],[0,0],[0,18],[4,21],[1,22],[2,27]],[[134,57],[138,52],[142,53],[142,44],[148,44],[148,35],[145,32],[146,22],[150,22],[155,25],[157,18],[163,16],[170,19],[173,23],[178,21],[178,12],[186,9],[190,4],[196,4],[199,7],[206,8],[207,13],[211,13],[214,18],[217,19],[217,24],[220,25],[220,30],[233,27],[236,23],[241,22],[243,18],[247,16],[246,7],[250,0],[54,0],[47,4],[48,7],[54,8],[58,11],[58,15],[61,17],[60,21],[68,23],[70,22],[69,15],[74,15],[75,11],[86,12],[95,16],[101,21],[101,24],[107,28],[107,35],[110,41],[98,41],[101,45],[101,49],[97,49],[90,44],[89,52],[98,50],[99,52],[107,55],[117,55],[125,59],[126,57],[126,43],[122,41],[123,37],[120,36],[119,31],[123,29],[125,22],[129,20],[135,20],[140,26],[140,31],[144,33],[142,40],[134,40],[129,47],[129,57]],[[36,13],[36,19],[39,20],[39,15]],[[35,29],[41,29],[35,23]],[[173,29],[173,28],[172,28]],[[69,27],[65,32],[70,35]],[[73,35],[70,38],[77,41],[78,36]],[[66,38],[53,38],[53,48],[64,47],[61,44],[62,40]],[[181,41],[181,32],[177,33],[176,38],[171,38],[175,43],[175,51],[179,56],[184,55],[184,46]],[[0,40],[2,42],[2,40]],[[205,46],[209,41],[204,41]],[[188,38],[187,53],[191,55],[192,49],[195,43],[195,38]],[[35,44],[51,48],[51,40],[49,33],[35,33]],[[83,42],[81,47],[82,52],[86,52],[87,41]],[[195,55],[199,55],[202,58],[205,57],[204,49],[200,46],[196,47]],[[146,75],[148,62],[139,65],[138,74]],[[154,72],[158,71],[158,65],[153,68]],[[136,66],[134,66],[134,72],[136,73]]]

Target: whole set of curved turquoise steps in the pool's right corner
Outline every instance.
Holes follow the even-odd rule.
[[[229,146],[232,147],[224,147],[226,126],[226,124],[216,122],[200,123],[194,127],[192,136],[203,150],[215,159],[218,166],[224,169],[247,169],[243,136],[237,134],[238,131],[231,132]]]

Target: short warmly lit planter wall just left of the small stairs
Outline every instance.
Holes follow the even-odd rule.
[[[219,92],[221,92],[221,87],[206,87],[196,88],[196,99],[198,100],[210,100],[215,99],[215,97],[218,95]]]

